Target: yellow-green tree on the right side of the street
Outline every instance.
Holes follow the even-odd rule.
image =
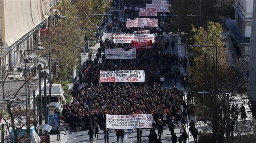
[[[196,29],[192,25],[194,34],[190,40],[193,45],[206,45],[206,31],[203,28]],[[215,64],[216,48],[208,47],[207,63],[204,61],[206,47],[190,47],[190,56],[194,56],[193,67],[189,67],[189,79],[191,89],[197,93],[199,91],[210,91],[218,94],[195,94],[195,104],[197,106],[197,119],[207,124],[213,132],[215,141],[225,142],[226,114],[231,103],[235,104],[240,95],[246,93],[246,62],[240,67],[230,66],[228,57],[230,56],[224,42],[221,41],[221,25],[219,23],[208,23],[208,46],[217,46],[217,65]],[[217,66],[217,79],[215,79],[215,68]],[[217,84],[215,84],[217,80]],[[195,83],[195,84],[193,84]],[[227,104],[227,94],[229,102]],[[228,106],[227,106],[228,105]],[[229,108],[227,108],[229,107]],[[229,111],[228,117],[231,116]]]

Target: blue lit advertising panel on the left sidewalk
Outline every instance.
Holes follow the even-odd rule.
[[[51,131],[56,131],[57,127],[60,126],[60,112],[55,111],[53,115],[49,114],[48,111],[48,125],[51,125]]]

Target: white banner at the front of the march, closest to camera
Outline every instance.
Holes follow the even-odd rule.
[[[110,129],[151,128],[152,114],[109,115],[106,114],[106,127]]]

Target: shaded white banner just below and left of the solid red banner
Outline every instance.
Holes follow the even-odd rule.
[[[136,49],[130,49],[128,51],[121,48],[105,49],[105,54],[106,59],[135,59]]]

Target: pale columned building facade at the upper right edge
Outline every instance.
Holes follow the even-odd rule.
[[[230,51],[236,63],[249,56],[253,0],[235,0],[233,7],[235,19],[226,20],[226,25],[230,30]]]

